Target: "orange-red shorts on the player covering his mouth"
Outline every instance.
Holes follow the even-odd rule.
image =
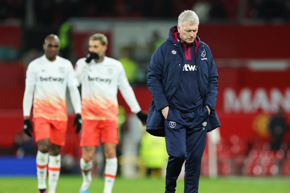
[[[100,146],[101,143],[118,144],[118,121],[82,120],[80,146]]]

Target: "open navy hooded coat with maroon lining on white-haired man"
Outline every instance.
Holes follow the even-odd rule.
[[[176,54],[174,51],[176,51]],[[173,53],[172,53],[173,52]],[[164,123],[161,109],[169,106],[169,101],[179,88],[182,69],[186,61],[182,57],[183,47],[178,40],[177,26],[169,31],[169,37],[153,53],[147,75],[147,84],[152,94],[146,130],[148,133],[164,137]],[[207,132],[220,127],[215,111],[218,95],[218,73],[208,45],[195,39],[195,65],[198,67],[197,82],[204,105],[211,109]]]

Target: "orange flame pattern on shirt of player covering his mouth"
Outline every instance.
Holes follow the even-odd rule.
[[[118,105],[105,97],[82,98],[82,119],[118,121]]]

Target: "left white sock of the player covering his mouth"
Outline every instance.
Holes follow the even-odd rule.
[[[82,169],[82,190],[89,189],[91,183],[92,183],[92,167],[93,167],[93,161],[85,162],[84,159],[81,158],[79,161],[79,165]]]

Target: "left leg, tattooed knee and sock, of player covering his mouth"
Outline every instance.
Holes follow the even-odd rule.
[[[79,190],[80,193],[88,193],[92,183],[92,159],[95,155],[95,146],[82,147],[82,158],[80,160],[80,167],[82,170],[82,186]]]

